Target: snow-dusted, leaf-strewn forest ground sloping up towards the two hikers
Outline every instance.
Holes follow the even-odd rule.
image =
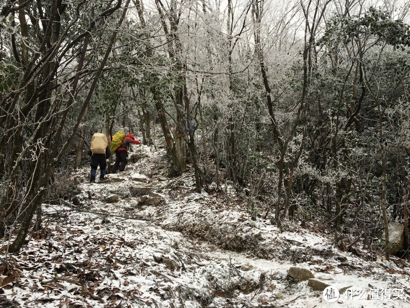
[[[2,248],[0,307],[410,307],[403,260],[366,261],[300,226],[278,233],[237,196],[195,193],[189,172],[165,177],[163,152],[143,150],[106,183],[80,170],[79,203],[45,204],[42,232],[18,254]],[[291,266],[350,289],[327,302]]]

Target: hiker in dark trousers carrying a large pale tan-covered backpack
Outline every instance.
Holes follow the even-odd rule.
[[[99,180],[104,181],[107,168],[106,160],[111,157],[107,136],[104,133],[96,132],[93,134],[88,155],[91,156],[90,183],[95,182],[95,175],[97,173],[98,166],[100,169]]]

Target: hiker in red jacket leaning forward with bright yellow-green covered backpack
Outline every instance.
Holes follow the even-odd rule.
[[[139,140],[135,140],[132,133],[125,135],[122,131],[117,131],[111,141],[110,150],[115,152],[115,163],[111,169],[111,173],[116,173],[117,170],[124,171],[127,166],[127,151],[130,144],[139,144]]]

